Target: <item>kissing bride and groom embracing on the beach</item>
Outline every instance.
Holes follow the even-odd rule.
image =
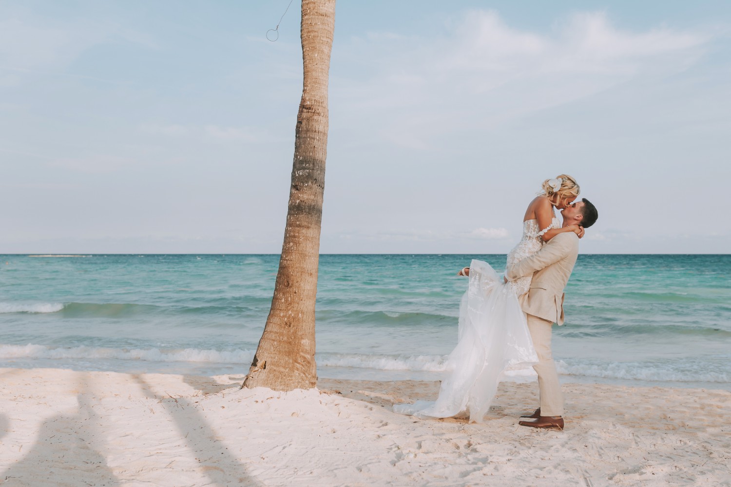
[[[551,353],[553,323],[564,323],[564,288],[584,229],[599,214],[569,175],[545,180],[523,217],[523,237],[507,256],[504,277],[473,260],[458,275],[469,277],[459,314],[457,346],[447,359],[436,402],[395,404],[395,413],[417,418],[469,418],[481,422],[505,372],[532,366],[539,407],[521,426],[564,429],[564,398]],[[561,211],[563,222],[556,218]]]

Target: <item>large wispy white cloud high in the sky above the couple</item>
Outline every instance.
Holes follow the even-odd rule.
[[[430,150],[445,131],[491,129],[621,83],[681,72],[711,40],[665,27],[622,30],[605,12],[572,15],[549,34],[508,26],[492,11],[467,12],[448,28],[431,39],[369,34],[352,43],[352,53],[370,53],[363,62],[371,69],[335,88],[333,107],[344,107],[338,115],[357,113],[358,123],[387,110],[383,139]]]

